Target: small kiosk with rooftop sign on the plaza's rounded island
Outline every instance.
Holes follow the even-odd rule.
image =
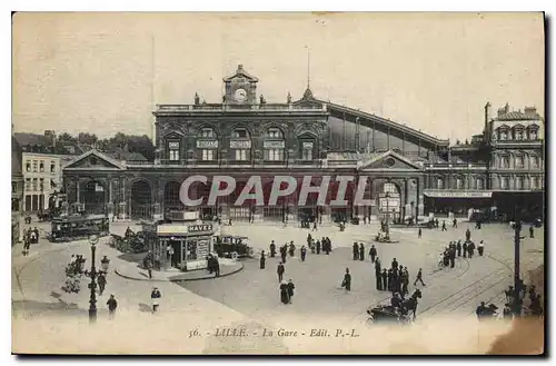
[[[160,269],[206,269],[212,251],[212,224],[199,221],[199,212],[170,212],[167,219],[143,222],[142,231],[149,251],[160,261]]]

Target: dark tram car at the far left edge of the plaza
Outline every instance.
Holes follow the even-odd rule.
[[[50,241],[86,239],[90,235],[108,236],[110,220],[103,215],[67,216],[52,219]]]

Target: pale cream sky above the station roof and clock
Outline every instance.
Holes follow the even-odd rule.
[[[16,132],[152,136],[157,103],[221,102],[239,63],[268,102],[302,96],[439,138],[484,106],[544,113],[542,13],[18,13]],[[308,48],[310,62],[308,67]]]

